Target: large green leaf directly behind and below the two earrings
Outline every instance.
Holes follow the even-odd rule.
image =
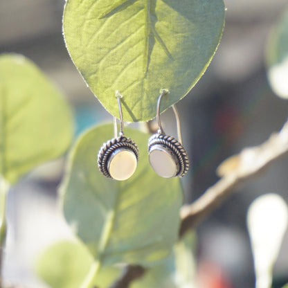
[[[141,159],[127,181],[107,179],[97,168],[102,143],[113,136],[113,125],[95,127],[71,152],[62,184],[64,215],[100,265],[117,262],[145,266],[165,258],[177,240],[180,181],[163,179],[150,168],[149,135],[126,128]]]

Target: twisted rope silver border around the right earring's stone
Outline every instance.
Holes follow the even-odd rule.
[[[184,147],[174,137],[164,134],[153,134],[148,141],[148,152],[150,153],[151,147],[155,144],[164,145],[175,154],[179,161],[179,172],[175,177],[183,177],[189,170],[189,158]]]

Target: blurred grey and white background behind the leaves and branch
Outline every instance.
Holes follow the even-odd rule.
[[[264,52],[269,30],[287,0],[226,0],[226,28],[212,63],[177,107],[183,144],[192,161],[184,177],[185,201],[197,199],[217,181],[220,162],[243,147],[259,145],[287,120],[288,102],[267,82]],[[75,136],[111,120],[71,62],[62,37],[64,0],[1,0],[0,53],[21,53],[33,60],[62,89],[75,112]],[[288,75],[287,75],[288,81]],[[162,118],[176,134],[174,116]],[[57,204],[64,159],[37,168],[12,188],[8,197],[8,246],[4,278],[29,288],[47,287],[33,275],[44,246],[71,234]],[[199,273],[210,287],[253,287],[253,258],[246,229],[251,201],[275,192],[288,202],[288,159],[235,192],[197,228]],[[288,282],[288,234],[274,270],[273,287]],[[215,282],[213,280],[215,279]],[[217,286],[218,285],[218,286]]]

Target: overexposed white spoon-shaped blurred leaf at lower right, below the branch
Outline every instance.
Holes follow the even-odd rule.
[[[288,226],[286,201],[275,193],[256,198],[247,212],[247,226],[253,252],[256,287],[271,287],[273,266]]]

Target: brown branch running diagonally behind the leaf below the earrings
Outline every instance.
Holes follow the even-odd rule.
[[[221,204],[233,190],[236,190],[280,157],[288,154],[288,122],[279,133],[272,134],[264,143],[242,150],[220,165],[222,178],[204,192],[195,202],[183,206],[180,211],[181,226],[179,237],[195,227],[204,217]],[[127,288],[136,278],[145,273],[141,266],[129,265],[120,278],[110,288]]]

